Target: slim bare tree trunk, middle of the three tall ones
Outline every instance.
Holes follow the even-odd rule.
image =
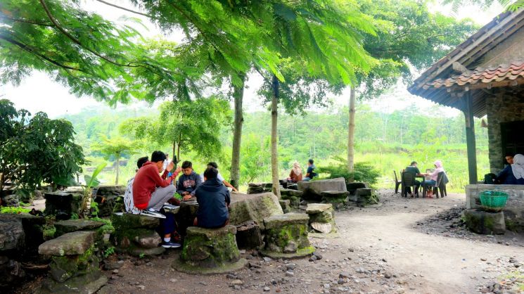
[[[280,199],[279,152],[277,150],[279,79],[275,75],[273,75],[271,87],[273,88],[273,95],[271,96],[271,183],[273,184],[273,193]]]

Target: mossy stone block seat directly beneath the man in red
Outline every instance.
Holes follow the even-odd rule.
[[[120,252],[134,256],[160,255],[165,248],[158,246],[162,240],[155,231],[160,225],[160,219],[146,215],[115,212],[111,215],[115,232],[111,241]]]

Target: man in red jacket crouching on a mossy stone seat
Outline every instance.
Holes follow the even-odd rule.
[[[160,177],[160,172],[163,170],[163,163],[166,156],[162,151],[155,151],[151,155],[151,161],[148,161],[140,167],[139,171],[136,172],[133,181],[133,200],[134,206],[139,210],[142,210],[144,215],[151,215],[154,217],[162,217],[158,212],[164,206],[167,200],[170,200],[174,196],[174,192],[177,188],[172,185],[172,181],[177,177],[181,168],[167,177],[167,173],[170,172],[174,163],[170,162],[165,169],[164,174]],[[172,215],[164,222],[164,238],[162,247],[164,248],[179,248],[179,243],[171,242],[171,233],[174,229]]]

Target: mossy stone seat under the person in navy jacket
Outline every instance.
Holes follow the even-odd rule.
[[[247,264],[236,245],[236,227],[204,229],[190,226],[186,230],[180,259],[172,267],[188,274],[221,274],[236,271]]]

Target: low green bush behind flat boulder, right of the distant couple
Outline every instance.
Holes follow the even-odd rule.
[[[354,164],[354,171],[347,171],[347,162],[344,158],[336,157],[336,164],[318,167],[320,174],[328,174],[327,179],[335,179],[343,177],[347,183],[353,181],[368,182],[369,184],[376,184],[380,172],[375,167],[366,162],[357,162]]]

